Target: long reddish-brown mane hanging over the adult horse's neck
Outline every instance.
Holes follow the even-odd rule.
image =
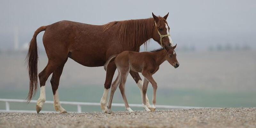
[[[145,47],[147,47],[148,39],[152,36],[154,21],[154,18],[113,21],[105,24],[103,31],[116,25],[115,38],[118,39],[118,42],[132,47],[140,47],[145,43]]]

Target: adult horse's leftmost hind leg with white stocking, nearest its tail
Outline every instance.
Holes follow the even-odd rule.
[[[42,107],[44,105],[44,102],[46,100],[45,98],[45,82],[48,79],[48,77],[52,74],[56,68],[63,63],[64,60],[57,60],[55,61],[48,60],[48,64],[44,68],[42,72],[38,74],[39,82],[40,82],[40,97],[37,100],[36,103],[36,112],[39,113],[42,110]]]

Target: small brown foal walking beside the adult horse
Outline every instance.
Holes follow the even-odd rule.
[[[148,88],[148,82],[152,84],[153,106],[151,108],[151,111],[155,111],[157,84],[156,84],[156,81],[153,79],[152,75],[156,73],[156,71],[159,69],[159,66],[165,60],[167,60],[174,68],[179,67],[179,62],[176,59],[176,52],[174,51],[174,49],[176,48],[176,45],[173,46],[168,51],[166,51],[163,48],[155,51],[151,51],[151,52],[124,51],[124,52],[121,52],[120,54],[112,55],[111,57],[109,57],[108,61],[104,65],[104,69],[107,70],[108,63],[111,62],[111,60],[115,59],[118,75],[116,77],[116,80],[113,82],[111,86],[110,98],[108,100],[108,113],[112,113],[111,103],[112,103],[114,92],[116,91],[117,85],[119,83],[120,83],[119,89],[123,96],[125,108],[129,112],[133,112],[128,105],[128,102],[125,96],[125,91],[124,91],[126,78],[131,70],[134,72],[141,72],[141,74],[144,76],[144,84],[142,87],[142,92],[143,92],[142,105],[146,111],[150,111],[150,109],[146,105],[146,92]]]

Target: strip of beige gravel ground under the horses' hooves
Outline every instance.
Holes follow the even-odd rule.
[[[202,108],[91,113],[0,113],[0,127],[256,127],[256,108]]]

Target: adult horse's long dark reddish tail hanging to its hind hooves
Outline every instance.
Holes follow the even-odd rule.
[[[38,60],[38,52],[37,52],[37,44],[36,44],[36,36],[41,31],[44,31],[46,26],[42,26],[38,28],[29,44],[28,54],[26,57],[26,61],[28,63],[28,74],[29,74],[29,92],[27,97],[27,102],[29,103],[30,100],[36,95],[37,90],[37,60]]]

